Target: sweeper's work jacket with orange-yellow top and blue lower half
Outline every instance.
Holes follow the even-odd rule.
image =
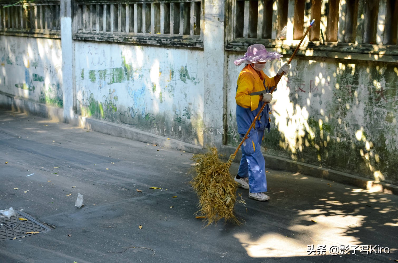
[[[251,65],[246,65],[239,73],[235,96],[238,133],[248,131],[254,117],[265,103],[259,102],[260,94],[269,93],[273,86],[275,86],[274,77],[268,77],[262,70],[258,74]],[[269,105],[266,105],[259,115],[254,129],[264,130],[267,128],[269,132],[269,112]]]

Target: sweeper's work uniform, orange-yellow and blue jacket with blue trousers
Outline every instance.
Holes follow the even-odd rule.
[[[239,74],[236,87],[236,122],[241,139],[252,124],[254,117],[265,102],[259,102],[261,93],[269,93],[275,86],[275,81],[262,71],[258,74],[250,65],[247,65]],[[261,153],[261,142],[265,128],[270,128],[269,105],[264,107],[259,115],[256,125],[248,134],[248,138],[242,144],[242,159],[238,170],[238,176],[249,178],[251,193],[267,191],[267,179],[265,177],[265,160]]]

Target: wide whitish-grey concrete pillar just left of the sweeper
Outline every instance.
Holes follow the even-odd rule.
[[[222,145],[222,115],[224,112],[224,76],[226,73],[224,56],[224,0],[205,0],[205,19],[203,30],[204,52],[204,113],[205,127],[214,128],[214,133],[205,133],[203,145],[206,147]]]

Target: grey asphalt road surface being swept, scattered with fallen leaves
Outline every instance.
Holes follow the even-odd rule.
[[[0,219],[0,262],[398,260],[396,195],[268,170],[269,201],[238,190],[244,224],[203,228],[188,184],[192,154],[148,143],[0,109],[0,210],[51,229],[5,240]]]

